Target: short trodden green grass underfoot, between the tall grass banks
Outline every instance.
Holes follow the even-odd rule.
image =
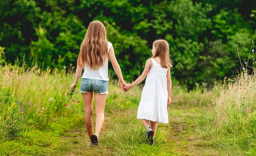
[[[195,133],[194,119],[201,113],[197,108],[169,107],[169,124],[158,124],[155,144],[145,142],[145,130],[136,119],[136,110],[125,113],[106,113],[99,147],[87,147],[89,138],[84,124],[70,126],[64,134],[54,131],[31,130],[24,138],[0,142],[2,155],[212,155],[221,151],[210,140],[202,140]],[[82,115],[81,115],[82,117]],[[73,118],[74,119],[74,118]],[[71,122],[71,121],[70,121]],[[69,121],[56,127],[69,126]]]

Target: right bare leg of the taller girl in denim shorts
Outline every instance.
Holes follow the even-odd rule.
[[[100,133],[104,123],[104,109],[107,99],[107,94],[94,93],[95,106],[96,106],[96,128],[95,132]]]

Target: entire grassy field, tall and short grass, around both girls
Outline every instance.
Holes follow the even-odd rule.
[[[168,106],[169,124],[158,124],[155,144],[150,146],[145,142],[141,120],[136,118],[142,86],[125,93],[118,88],[117,81],[111,80],[100,145],[91,148],[86,146],[89,138],[84,126],[81,94],[75,92],[71,98],[75,102],[67,97],[73,75],[49,69],[41,71],[37,67],[28,69],[25,65],[2,66],[0,79],[0,155],[220,156],[255,153],[253,126],[256,118],[251,111],[255,103],[246,107],[249,112],[236,118],[241,122],[227,122],[231,121],[230,114],[235,110],[230,110],[232,103],[224,107],[226,105],[216,102],[227,99],[224,93],[230,87],[201,94],[199,89],[188,93],[174,86],[172,104]],[[254,83],[254,79],[252,81]],[[247,101],[243,103],[246,105]],[[222,116],[216,118],[223,114],[225,120]],[[230,127],[234,123],[241,126],[236,133],[230,130],[235,128]],[[242,140],[247,133],[246,140]]]

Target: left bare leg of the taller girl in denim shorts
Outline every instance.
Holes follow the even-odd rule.
[[[88,136],[93,135],[93,92],[82,93],[84,101],[85,126]]]

